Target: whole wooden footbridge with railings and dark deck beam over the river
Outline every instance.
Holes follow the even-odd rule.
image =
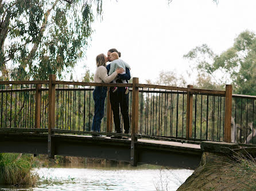
[[[256,97],[232,94],[231,85],[220,91],[141,84],[138,78],[120,83],[130,89],[129,134],[114,133],[109,95],[101,132],[91,132],[95,86],[116,85],[56,81],[55,75],[49,81],[0,82],[0,152],[196,168],[201,141],[255,144]]]

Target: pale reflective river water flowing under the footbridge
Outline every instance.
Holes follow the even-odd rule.
[[[0,186],[1,190],[176,190],[193,173],[159,166],[81,166],[34,169],[40,183],[34,188]]]

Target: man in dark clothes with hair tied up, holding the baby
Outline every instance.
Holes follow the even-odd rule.
[[[116,52],[121,57],[121,53],[117,51],[117,49],[110,49],[107,51],[107,58],[110,61],[110,54]],[[110,65],[107,65],[107,73],[110,71]],[[130,70],[126,67],[125,74],[118,74],[118,78],[125,79],[128,83],[128,80],[131,78]],[[118,82],[118,81],[117,81]],[[120,112],[119,107],[121,108],[121,113],[123,116],[123,124],[125,128],[125,133],[128,134],[130,131],[130,120],[129,120],[129,93],[125,94],[125,87],[118,87],[118,90],[113,93],[112,89],[110,89],[110,103],[111,109],[113,110],[114,115],[114,124],[115,124],[115,132],[122,133],[121,125],[120,125]],[[111,136],[111,138],[123,138],[128,139],[128,137],[121,137],[121,136]]]

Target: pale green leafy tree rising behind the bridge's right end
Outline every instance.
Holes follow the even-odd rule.
[[[197,46],[184,55],[199,74],[219,85],[232,83],[234,93],[256,95],[256,35],[243,31],[234,45],[222,54],[215,54],[207,45]]]

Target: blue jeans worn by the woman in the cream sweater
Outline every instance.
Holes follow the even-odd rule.
[[[94,89],[94,119],[92,121],[92,131],[100,132],[100,123],[104,116],[105,98],[107,96],[107,87],[98,87]]]

